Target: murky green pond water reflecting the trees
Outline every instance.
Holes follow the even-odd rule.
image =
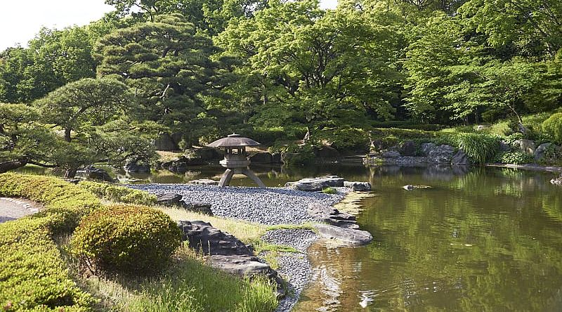
[[[313,245],[294,311],[562,311],[562,187],[553,173],[498,168],[253,167],[266,186],[336,174],[370,181],[365,247]],[[218,178],[221,167],[133,175]],[[119,176],[119,174],[117,174]],[[431,188],[404,190],[411,184]],[[233,185],[251,185],[247,178]]]

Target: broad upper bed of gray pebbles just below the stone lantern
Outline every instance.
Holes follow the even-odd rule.
[[[183,195],[184,202],[211,204],[215,216],[268,225],[313,221],[306,212],[308,204],[320,202],[331,206],[339,202],[348,191],[348,188],[337,188],[337,194],[324,194],[287,188],[221,188],[185,184],[135,184],[129,187],[153,194],[178,193]]]

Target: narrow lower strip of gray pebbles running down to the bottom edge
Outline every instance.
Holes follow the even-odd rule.
[[[285,252],[277,256],[277,263],[280,267],[277,272],[287,281],[289,295],[280,301],[275,311],[291,311],[311,278],[311,264],[306,251],[318,239],[318,235],[312,230],[283,229],[270,230],[262,236],[262,239],[271,244],[294,247],[302,252],[301,254]]]

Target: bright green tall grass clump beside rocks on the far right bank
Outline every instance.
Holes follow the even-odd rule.
[[[485,164],[499,151],[499,139],[488,134],[457,134],[454,140],[476,164]]]

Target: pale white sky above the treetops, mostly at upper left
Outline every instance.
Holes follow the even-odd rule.
[[[98,20],[112,6],[104,0],[16,0],[0,5],[0,51],[26,46],[42,26],[62,29]],[[335,8],[337,0],[320,0],[322,8]]]

